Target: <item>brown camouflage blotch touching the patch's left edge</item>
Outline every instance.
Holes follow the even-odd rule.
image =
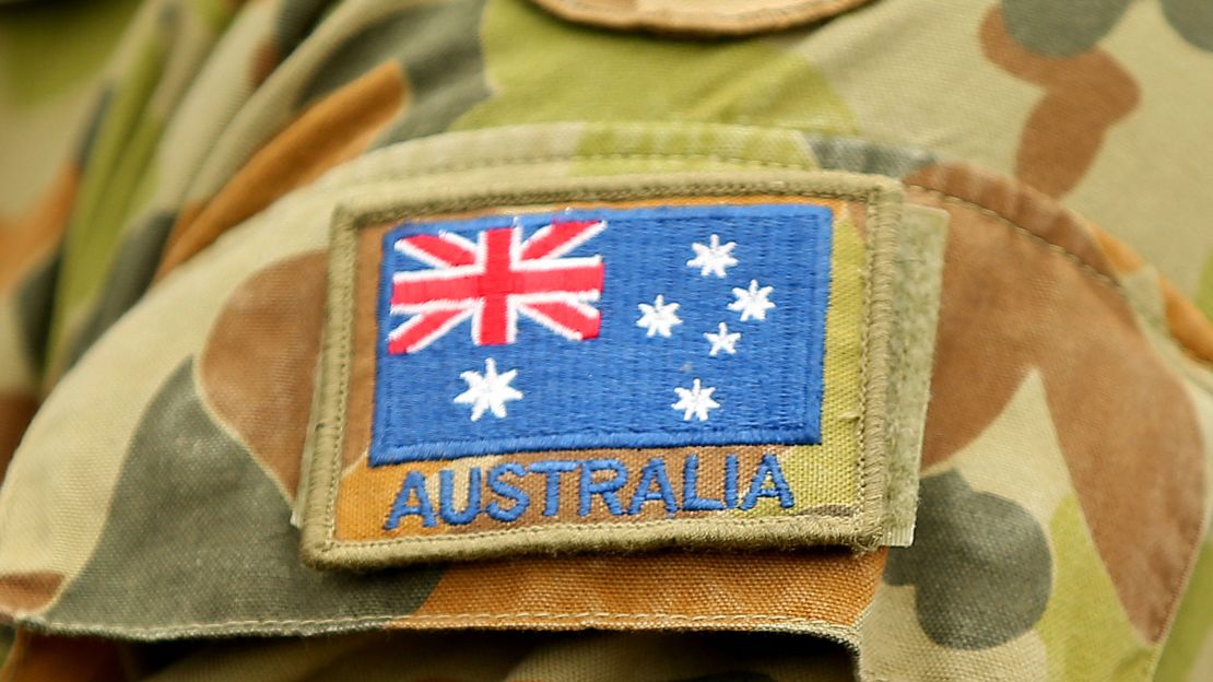
[[[324,317],[325,251],[274,263],[227,300],[201,352],[216,415],[294,496]]]

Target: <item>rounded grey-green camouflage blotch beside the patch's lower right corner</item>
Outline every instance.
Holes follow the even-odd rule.
[[[1044,530],[1024,507],[976,493],[956,471],[922,479],[911,547],[889,550],[884,581],[913,585],[923,632],[953,649],[985,649],[1027,632],[1044,613],[1053,568]]]

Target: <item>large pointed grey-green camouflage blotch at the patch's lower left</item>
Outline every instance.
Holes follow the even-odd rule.
[[[244,447],[211,421],[192,359],[148,405],[110,508],[97,513],[108,513],[101,540],[47,614],[52,623],[238,631],[238,621],[260,621],[269,632],[292,631],[275,620],[336,619],[330,629],[342,629],[343,618],[411,613],[442,575],[440,568],[360,576],[303,567],[290,508]]]

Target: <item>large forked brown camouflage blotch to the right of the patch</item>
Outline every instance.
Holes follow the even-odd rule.
[[[1129,618],[1157,641],[1203,508],[1202,443],[1184,387],[1101,279],[1107,263],[1075,218],[964,169],[927,169],[910,182],[926,186],[911,200],[951,214],[923,466],[970,443],[1040,368],[1095,545]]]

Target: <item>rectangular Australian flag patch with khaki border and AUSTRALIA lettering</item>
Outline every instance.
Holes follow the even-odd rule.
[[[338,214],[304,556],[876,546],[900,193],[579,182]]]

